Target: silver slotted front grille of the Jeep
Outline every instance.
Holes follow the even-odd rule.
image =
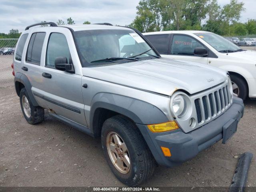
[[[228,86],[218,86],[210,94],[200,96],[194,100],[197,123],[203,124],[224,112],[230,106]]]

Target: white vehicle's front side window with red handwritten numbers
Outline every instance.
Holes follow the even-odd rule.
[[[194,49],[196,47],[204,47],[194,38],[186,35],[174,35],[172,39],[172,55],[187,55],[194,56]]]

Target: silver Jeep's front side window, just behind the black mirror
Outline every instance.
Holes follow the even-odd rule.
[[[45,65],[54,67],[54,61],[57,57],[66,57],[68,61],[71,59],[65,35],[52,33],[48,41]]]

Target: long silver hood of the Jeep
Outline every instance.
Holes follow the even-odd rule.
[[[83,75],[171,96],[176,90],[190,94],[224,82],[226,71],[194,62],[158,58],[83,68]]]

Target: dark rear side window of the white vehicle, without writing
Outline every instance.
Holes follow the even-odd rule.
[[[167,54],[169,47],[169,35],[149,35],[146,38],[158,50],[160,54]]]

